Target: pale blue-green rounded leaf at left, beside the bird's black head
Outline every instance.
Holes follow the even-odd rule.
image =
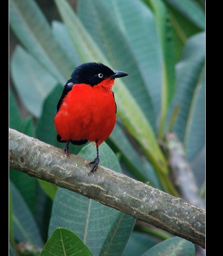
[[[11,57],[11,75],[24,106],[36,117],[57,81],[24,49],[17,46]]]

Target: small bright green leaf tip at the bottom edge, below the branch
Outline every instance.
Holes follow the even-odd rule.
[[[91,256],[88,247],[68,229],[58,228],[44,246],[40,256]]]

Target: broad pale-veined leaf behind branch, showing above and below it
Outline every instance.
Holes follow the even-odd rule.
[[[96,148],[88,144],[80,151],[81,157],[92,161]],[[99,146],[100,164],[121,172],[115,154],[106,143]],[[89,166],[90,171],[91,166]],[[97,172],[94,174],[97,175]],[[93,255],[98,255],[108,232],[120,212],[75,192],[58,188],[53,201],[49,236],[57,227],[69,229],[88,246]],[[133,219],[133,221],[135,221]],[[123,232],[126,232],[125,229]]]

